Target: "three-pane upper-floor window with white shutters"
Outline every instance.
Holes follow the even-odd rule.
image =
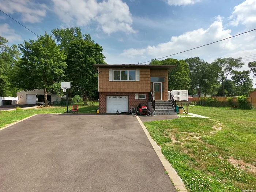
[[[110,81],[139,81],[139,70],[112,70],[109,69]]]

